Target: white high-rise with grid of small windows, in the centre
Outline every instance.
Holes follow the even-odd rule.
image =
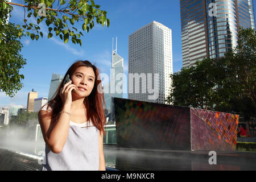
[[[172,30],[161,23],[151,22],[129,35],[129,75],[138,73],[131,79],[129,76],[128,98],[131,100],[167,104],[164,100],[170,94],[172,71]],[[142,74],[144,73],[144,74]],[[159,74],[158,97],[148,99],[152,92],[148,92],[148,83],[152,74],[151,89],[154,89],[155,73]],[[146,75],[146,80],[144,76]],[[136,77],[139,81],[135,81]],[[146,82],[145,82],[146,81]],[[139,86],[139,93],[135,93]],[[133,88],[133,89],[131,89]],[[143,90],[146,89],[146,93]],[[130,90],[133,90],[131,93]]]

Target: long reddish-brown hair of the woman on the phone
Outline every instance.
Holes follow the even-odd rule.
[[[95,77],[94,86],[92,92],[89,94],[88,97],[85,97],[84,104],[86,107],[86,116],[88,121],[92,121],[93,125],[97,127],[98,130],[104,131],[104,125],[106,122],[106,117],[104,114],[104,109],[106,108],[104,94],[101,84],[100,72],[96,66],[92,65],[90,61],[76,61],[71,65],[68,69],[67,73],[65,74],[64,78],[69,74],[72,77],[73,73],[79,67],[90,67],[93,69]],[[46,104],[47,110],[48,107],[51,107],[52,110],[48,111],[48,117],[53,119],[53,122],[57,121],[60,115],[60,111],[63,108],[63,102],[60,98],[60,89],[63,87],[64,79],[61,81],[59,87],[57,88],[56,92],[53,94],[52,99]],[[98,90],[98,92],[97,92]]]

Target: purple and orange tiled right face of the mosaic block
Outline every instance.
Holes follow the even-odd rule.
[[[191,107],[191,150],[234,150],[238,115]]]

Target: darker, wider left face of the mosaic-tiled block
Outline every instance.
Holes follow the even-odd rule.
[[[190,150],[189,107],[114,98],[118,147]]]

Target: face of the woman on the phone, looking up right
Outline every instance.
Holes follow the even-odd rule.
[[[79,67],[73,73],[72,84],[76,85],[75,92],[81,97],[87,97],[93,90],[95,75],[91,67]]]

